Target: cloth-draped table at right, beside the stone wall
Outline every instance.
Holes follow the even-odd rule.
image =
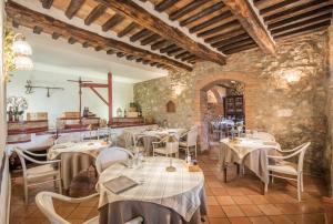
[[[220,145],[219,164],[224,171],[224,181],[226,182],[226,171],[230,164],[239,164],[242,167],[245,165],[263,182],[263,193],[265,193],[270,180],[268,155],[280,155],[280,144],[275,141],[244,136],[233,140],[222,139]]]

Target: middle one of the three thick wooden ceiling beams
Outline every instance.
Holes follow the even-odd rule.
[[[204,44],[194,41],[178,28],[169,26],[160,18],[149,13],[145,9],[129,0],[95,0],[105,7],[117,11],[118,13],[132,19],[138,24],[151,30],[152,32],[176,43],[180,48],[186,49],[189,52],[208,61],[219,64],[225,64],[225,55],[219,53]]]

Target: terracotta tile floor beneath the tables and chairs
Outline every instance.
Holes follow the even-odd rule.
[[[199,156],[199,164],[205,175],[209,215],[208,224],[254,223],[333,223],[333,205],[324,204],[321,196],[325,187],[321,180],[305,177],[305,192],[302,202],[296,201],[295,184],[278,180],[270,185],[269,192],[261,195],[261,183],[249,171],[245,176],[236,177],[235,169],[229,171],[229,182],[223,182],[223,174],[216,166],[216,150]],[[16,177],[17,176],[17,177]],[[71,196],[88,195],[94,190],[94,176],[78,176],[70,190]],[[49,223],[34,204],[34,195],[40,191],[54,191],[53,184],[30,190],[29,204],[24,205],[22,179],[13,175],[10,223]],[[71,223],[82,223],[98,214],[98,201],[85,204],[56,202],[56,211]]]

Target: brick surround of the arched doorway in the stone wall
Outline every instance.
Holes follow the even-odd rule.
[[[256,104],[256,94],[260,89],[258,74],[219,72],[202,75],[194,84],[194,120],[195,125],[199,126],[201,151],[208,150],[209,147],[208,126],[204,122],[204,114],[208,110],[204,103],[206,100],[204,93],[223,80],[234,80],[244,84],[245,124],[248,129],[254,129],[254,109]]]

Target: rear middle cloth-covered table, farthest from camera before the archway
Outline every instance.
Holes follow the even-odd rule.
[[[152,154],[152,142],[158,142],[164,139],[168,135],[174,135],[176,139],[180,139],[183,133],[185,133],[185,129],[154,129],[154,130],[143,130],[140,132],[132,132],[134,144],[137,142],[142,142],[144,152],[147,155]],[[137,145],[135,145],[137,146]]]

